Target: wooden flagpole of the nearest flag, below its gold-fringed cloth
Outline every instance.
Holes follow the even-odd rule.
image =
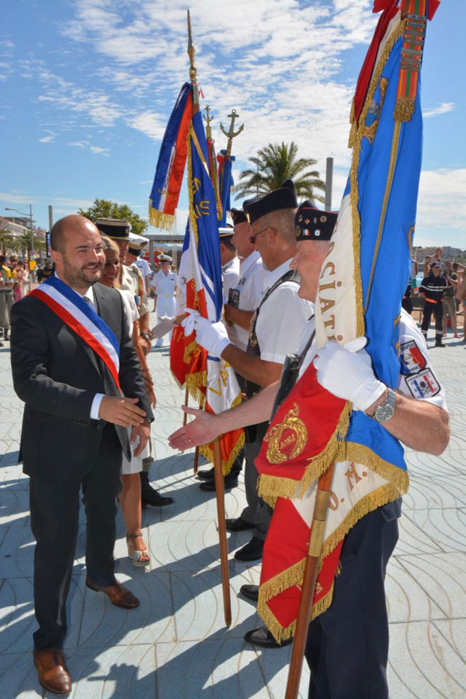
[[[317,483],[316,502],[312,515],[311,537],[304,569],[303,586],[301,588],[298,617],[296,619],[296,630],[293,640],[293,650],[291,651],[288,682],[286,682],[285,699],[298,698],[307,629],[309,628],[312,600],[314,599],[317,582],[317,571],[322,554],[323,537],[326,529],[328,503],[330,500],[330,491],[332,489],[334,469],[335,464],[330,463],[330,466],[326,472],[319,477],[319,482]]]

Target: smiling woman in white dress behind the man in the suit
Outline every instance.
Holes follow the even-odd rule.
[[[105,267],[101,279],[101,284],[105,287],[114,287],[122,295],[126,321],[128,323],[129,334],[133,338],[136,354],[140,363],[141,369],[145,375],[146,390],[152,405],[155,407],[155,396],[152,387],[152,379],[150,377],[147,364],[144,356],[140,356],[138,352],[138,327],[137,320],[139,318],[136,301],[131,291],[122,291],[119,289],[119,248],[110,238],[102,236],[103,250],[105,252]],[[131,433],[131,429],[129,429]],[[136,447],[136,445],[133,445]],[[143,470],[143,459],[149,456],[149,444],[139,456],[133,456],[131,461],[128,461],[123,456],[122,464],[122,491],[119,494],[119,504],[122,507],[123,519],[126,524],[126,544],[128,546],[128,555],[133,559],[134,565],[148,565],[150,561],[147,546],[145,545],[143,534],[141,533],[141,496],[140,496],[140,471]]]

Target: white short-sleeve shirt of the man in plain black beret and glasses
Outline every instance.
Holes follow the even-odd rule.
[[[264,294],[286,272],[291,258],[265,275]],[[256,336],[261,359],[283,364],[286,355],[296,352],[303,327],[312,315],[310,301],[298,296],[299,284],[284,282],[261,305],[256,322]]]

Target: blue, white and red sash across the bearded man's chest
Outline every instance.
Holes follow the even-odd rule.
[[[115,333],[83,301],[82,296],[56,276],[50,277],[40,287],[29,292],[50,308],[81,340],[97,354],[110,371],[118,391],[119,344]]]

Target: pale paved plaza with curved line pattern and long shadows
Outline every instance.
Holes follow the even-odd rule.
[[[6,345],[0,349],[0,698],[32,699],[53,695],[41,689],[32,663],[34,540],[29,479],[17,464],[22,403],[13,391]],[[430,354],[446,387],[451,441],[442,456],[408,452],[411,486],[388,566],[393,699],[466,696],[466,352],[451,336],[446,345]],[[259,582],[259,565],[247,567],[231,555],[233,623],[227,630],[214,493],[199,489],[193,454],[175,453],[167,444],[182,421],[184,391],[168,370],[168,347],[153,349],[149,365],[158,399],[151,477],[163,493],[174,496],[175,504],[143,512],[151,555],[147,569],[136,568],[126,555],[119,516],[117,577],[140,598],[133,611],[112,607],[103,594],[85,587],[82,517],[68,596],[70,696],[282,699],[291,647],[256,650],[243,641],[245,632],[261,621],[254,605],[237,593],[243,583]],[[44,459],[47,449],[53,445],[45,445]],[[244,503],[242,486],[226,493],[227,516],[237,517]],[[228,534],[229,552],[247,542],[249,534]],[[305,668],[303,699],[308,683]]]

